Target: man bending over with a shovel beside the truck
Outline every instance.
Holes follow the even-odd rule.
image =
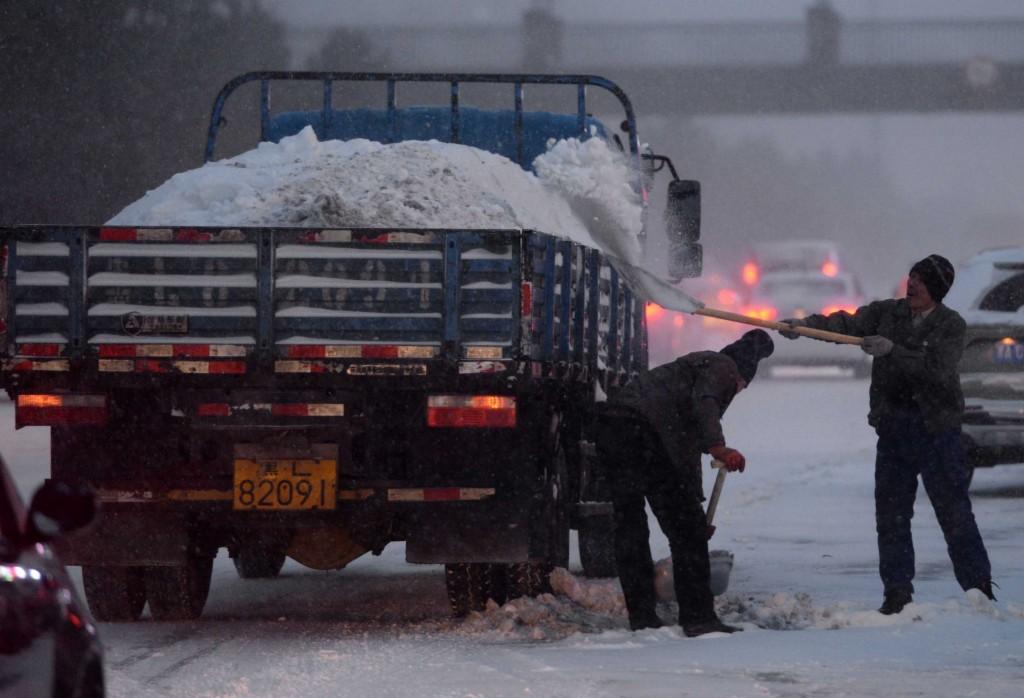
[[[743,455],[725,445],[721,418],[773,349],[768,334],[754,330],[720,352],[686,354],[641,374],[603,405],[597,448],[611,486],[615,562],[634,630],[662,625],[645,498],[669,538],[683,630],[695,637],[740,629],[715,613],[700,453],[743,470]]]

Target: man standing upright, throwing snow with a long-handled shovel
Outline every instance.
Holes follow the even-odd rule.
[[[978,588],[995,600],[988,554],[968,496],[961,441],[964,394],[957,364],[965,322],[955,310],[942,305],[953,277],[949,260],[929,255],[910,268],[905,299],[877,301],[852,315],[837,312],[783,320],[863,337],[863,350],[874,357],[867,422],[879,434],[874,514],[885,587],[879,611],[886,615],[899,613],[912,600],[910,518],[919,474],[945,536],[956,580],[964,590]]]

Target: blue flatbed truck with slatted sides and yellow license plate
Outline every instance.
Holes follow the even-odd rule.
[[[274,113],[270,89],[323,106]],[[371,83],[383,108],[338,108]],[[397,88],[445,86],[444,106]],[[485,83],[513,107],[462,104]],[[524,86],[567,90],[574,114],[523,108]],[[212,110],[258,92],[260,140],[437,139],[528,169],[549,139],[616,140],[643,190],[627,95],[592,76],[251,73]],[[624,111],[623,138],[588,90]],[[244,90],[243,90],[244,92]],[[675,171],[673,170],[673,175]],[[677,275],[699,273],[699,187],[674,178]],[[0,229],[0,386],[16,426],[50,428],[50,478],[87,483],[96,526],[67,544],[101,620],[198,617],[213,560],[243,577],[286,557],[339,569],[404,541],[443,564],[456,614],[548,587],[570,528],[584,571],[614,573],[611,510],[593,463],[596,401],[647,363],[644,302],[602,253],[558,231],[30,225]]]

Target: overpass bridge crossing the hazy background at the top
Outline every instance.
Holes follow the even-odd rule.
[[[648,114],[1024,110],[1024,19],[846,20],[817,2],[804,21],[588,25],[529,10],[509,26],[353,29],[386,70],[598,74]],[[317,31],[303,30],[306,45]]]

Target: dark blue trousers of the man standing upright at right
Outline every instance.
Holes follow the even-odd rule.
[[[887,418],[879,428],[874,517],[886,593],[913,593],[910,519],[919,474],[945,536],[956,581],[965,590],[987,581],[991,567],[968,496],[961,432],[929,433],[920,415],[908,413]]]

